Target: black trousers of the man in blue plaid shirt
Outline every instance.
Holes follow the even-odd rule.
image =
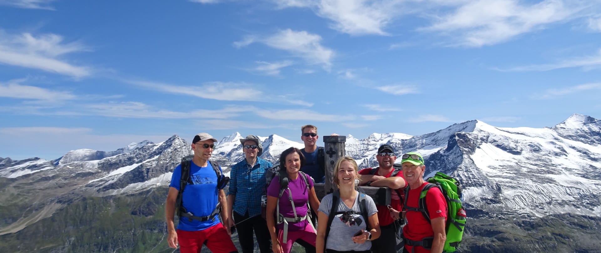
[[[248,219],[248,212],[242,216],[234,211],[234,223],[237,223],[236,230],[238,231],[242,253],[254,252],[255,240],[252,238],[253,231],[255,237],[257,237],[257,243],[261,253],[272,252],[271,236],[269,236],[269,230],[267,230],[267,221],[261,218],[261,215],[253,216]]]

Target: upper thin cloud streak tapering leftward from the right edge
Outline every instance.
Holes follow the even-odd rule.
[[[554,64],[538,64],[513,67],[510,69],[493,68],[494,70],[503,72],[526,72],[526,71],[549,71],[555,69],[566,69],[582,67],[584,69],[593,69],[601,67],[601,49],[596,54],[590,56],[582,56],[579,58],[566,59]]]

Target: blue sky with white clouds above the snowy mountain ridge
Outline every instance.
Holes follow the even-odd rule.
[[[601,3],[0,0],[0,157],[601,117]]]

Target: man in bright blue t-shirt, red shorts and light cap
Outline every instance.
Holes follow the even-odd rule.
[[[175,203],[180,191],[180,178],[182,178],[182,165],[173,170],[169,193],[165,204],[165,217],[167,221],[169,247],[180,246],[182,253],[200,252],[204,245],[213,253],[238,252],[231,241],[230,227],[224,227],[215,215],[218,204],[222,207],[221,218],[227,221],[230,213],[225,200],[225,192],[218,189],[218,177],[209,162],[215,148],[217,139],[208,133],[199,133],[194,136],[192,150],[194,158],[190,162],[190,176],[188,184],[182,192],[182,207],[194,218],[179,217],[177,231],[173,222]],[[221,171],[221,167],[219,167]]]

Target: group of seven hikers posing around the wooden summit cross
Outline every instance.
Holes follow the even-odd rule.
[[[340,157],[332,175],[335,190],[320,201],[314,183],[326,180],[323,147],[317,147],[316,126],[301,131],[305,147],[284,150],[275,166],[260,158],[257,136],[240,139],[245,159],[231,166],[230,177],[209,160],[217,140],[208,133],[194,136],[194,156],[182,159],[169,185],[169,246],[182,253],[200,253],[203,245],[215,253],[238,252],[231,240],[237,230],[243,253],[254,252],[253,237],[261,253],[288,253],[294,242],[306,253],[453,251],[445,245],[447,193],[424,180],[420,154],[403,154],[398,166],[394,148],[383,144],[379,166],[360,171],[352,157]],[[390,204],[376,205],[359,185],[390,188]],[[465,217],[463,209],[453,212]],[[462,231],[465,219],[459,223]]]

